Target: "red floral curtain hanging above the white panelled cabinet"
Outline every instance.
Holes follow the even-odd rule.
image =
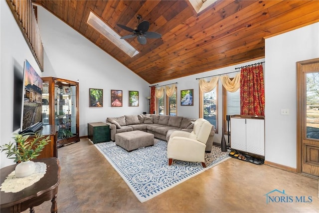
[[[249,66],[240,72],[240,114],[265,115],[263,66]]]

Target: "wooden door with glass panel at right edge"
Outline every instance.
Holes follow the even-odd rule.
[[[297,170],[319,177],[319,58],[298,62],[297,73]]]

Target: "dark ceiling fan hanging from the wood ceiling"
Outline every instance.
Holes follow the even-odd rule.
[[[160,38],[161,34],[158,32],[148,32],[149,27],[150,27],[150,22],[147,20],[143,20],[140,22],[140,19],[142,18],[141,15],[137,15],[137,18],[139,20],[139,24],[135,29],[132,29],[131,27],[122,25],[122,24],[117,24],[119,27],[129,31],[133,32],[131,35],[125,35],[122,36],[122,39],[127,39],[127,38],[135,38],[137,37],[138,41],[140,44],[146,44],[146,38]]]

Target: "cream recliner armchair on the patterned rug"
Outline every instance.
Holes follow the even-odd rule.
[[[192,132],[174,131],[167,143],[168,165],[175,159],[201,162],[206,167],[205,148],[212,126],[207,120],[199,118],[194,122]]]

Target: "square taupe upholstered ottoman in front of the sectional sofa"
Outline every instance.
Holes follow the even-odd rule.
[[[140,130],[122,132],[115,135],[115,144],[128,152],[154,145],[154,135]]]

